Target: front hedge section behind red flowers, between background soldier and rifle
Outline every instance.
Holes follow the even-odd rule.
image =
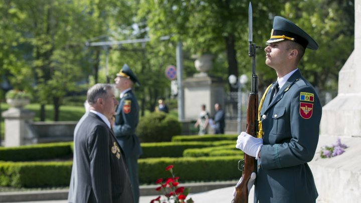
[[[154,184],[156,179],[168,176],[169,172],[164,171],[168,165],[174,166],[174,174],[179,176],[180,182],[238,179],[242,176],[237,168],[241,158],[242,156],[139,159],[139,182]]]

